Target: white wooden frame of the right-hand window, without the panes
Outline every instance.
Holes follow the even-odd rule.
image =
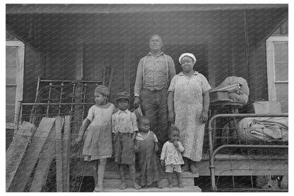
[[[269,100],[276,100],[275,83],[289,83],[289,81],[276,81],[274,43],[288,42],[288,35],[273,35],[266,40],[266,68]]]

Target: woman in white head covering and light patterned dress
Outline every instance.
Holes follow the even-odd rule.
[[[180,129],[180,142],[184,146],[183,171],[190,168],[192,173],[197,173],[196,162],[202,158],[211,86],[204,75],[193,70],[194,54],[182,54],[179,62],[182,71],[172,79],[168,88],[168,117]]]

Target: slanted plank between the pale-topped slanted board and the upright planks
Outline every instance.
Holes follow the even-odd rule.
[[[61,118],[64,121],[64,118]],[[63,123],[63,122],[62,122]],[[49,136],[44,144],[42,152],[39,156],[37,169],[35,171],[30,192],[41,192],[43,185],[46,183],[49,166],[52,162],[55,153],[55,126],[52,126]]]

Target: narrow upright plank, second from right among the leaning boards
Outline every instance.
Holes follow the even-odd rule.
[[[62,149],[61,149],[61,129],[63,124],[61,124],[61,117],[56,117],[55,129],[56,129],[56,183],[57,192],[63,191],[62,182]]]

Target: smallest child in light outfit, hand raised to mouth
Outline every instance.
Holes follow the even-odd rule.
[[[163,150],[161,151],[160,163],[165,165],[165,173],[167,173],[167,180],[170,185],[168,188],[172,188],[172,173],[175,171],[177,175],[177,183],[180,188],[182,185],[182,169],[181,165],[184,164],[182,158],[182,152],[184,147],[179,140],[180,130],[172,125],[170,127],[170,140],[163,144]]]

